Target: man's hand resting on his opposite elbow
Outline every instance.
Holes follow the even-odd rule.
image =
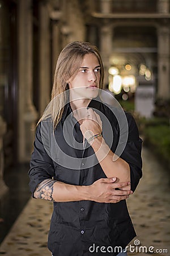
[[[115,183],[116,177],[103,178],[95,181],[90,185],[90,193],[92,201],[98,203],[118,203],[121,200],[127,199],[133,193],[130,190],[121,190],[129,186],[130,182]],[[118,188],[118,189],[116,189]]]

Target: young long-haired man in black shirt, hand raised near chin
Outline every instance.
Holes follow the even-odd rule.
[[[103,79],[95,46],[67,45],[37,125],[29,185],[53,201],[53,256],[117,255],[135,237],[126,199],[142,176],[142,140],[130,114],[101,102]]]

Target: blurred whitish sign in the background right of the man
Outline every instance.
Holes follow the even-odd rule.
[[[135,111],[146,118],[152,117],[155,102],[155,86],[139,85],[135,92]]]

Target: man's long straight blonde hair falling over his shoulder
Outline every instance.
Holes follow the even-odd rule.
[[[74,78],[79,71],[84,55],[94,53],[100,64],[100,84],[99,88],[103,88],[104,68],[96,46],[92,46],[88,42],[75,41],[68,44],[59,54],[56,71],[54,74],[54,83],[51,94],[51,102],[40,118],[38,124],[45,118],[51,117],[56,128],[58,122],[62,118],[63,109],[66,102],[66,90],[69,89],[67,81],[70,77]],[[59,95],[60,94],[60,95]],[[59,95],[59,97],[57,97]],[[57,100],[54,101],[54,98]]]

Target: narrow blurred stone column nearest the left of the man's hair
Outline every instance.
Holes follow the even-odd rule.
[[[50,101],[51,69],[50,69],[50,31],[49,13],[45,3],[40,5],[40,114]]]

